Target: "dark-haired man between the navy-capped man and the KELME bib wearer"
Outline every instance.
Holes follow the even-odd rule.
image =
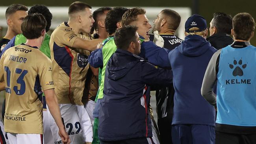
[[[232,17],[226,13],[214,13],[210,22],[210,37],[206,38],[211,46],[217,50],[233,43],[230,37],[232,29]]]

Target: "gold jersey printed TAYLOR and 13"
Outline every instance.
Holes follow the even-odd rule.
[[[50,59],[37,47],[20,44],[0,59],[0,77],[6,85],[4,130],[43,134],[43,90],[54,89]]]

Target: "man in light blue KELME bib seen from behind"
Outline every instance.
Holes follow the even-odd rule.
[[[216,106],[216,144],[256,142],[256,47],[250,45],[255,22],[249,13],[233,18],[234,42],[212,57],[202,83],[202,96]],[[217,98],[212,92],[217,81]]]

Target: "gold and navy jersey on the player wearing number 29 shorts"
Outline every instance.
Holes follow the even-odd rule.
[[[53,80],[59,103],[83,105],[82,96],[90,52],[73,48],[73,44],[78,37],[89,39],[89,36],[76,33],[67,22],[60,24],[51,35]]]

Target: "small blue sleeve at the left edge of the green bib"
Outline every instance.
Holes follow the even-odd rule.
[[[96,49],[89,55],[89,64],[94,68],[103,67],[102,49]]]

